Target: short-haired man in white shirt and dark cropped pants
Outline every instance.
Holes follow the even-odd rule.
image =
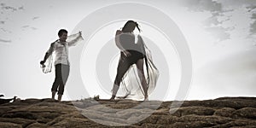
[[[52,99],[55,100],[55,93],[58,91],[58,101],[61,102],[61,97],[64,92],[64,86],[67,82],[69,75],[70,63],[68,60],[68,47],[75,45],[80,40],[83,40],[82,33],[71,35],[67,37],[67,30],[61,29],[58,32],[59,39],[54,43],[50,44],[50,47],[46,54],[44,55],[44,61],[40,61],[42,67],[45,67],[45,62],[51,60],[55,55],[54,65],[55,65],[55,81],[52,84],[51,92]],[[68,38],[73,37],[71,41],[67,41]],[[55,52],[55,54],[53,54]],[[50,63],[51,67],[51,63]],[[43,70],[44,71],[44,70]],[[50,70],[49,70],[50,72]],[[58,89],[58,90],[57,90]]]

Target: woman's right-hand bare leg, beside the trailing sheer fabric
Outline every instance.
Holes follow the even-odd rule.
[[[144,75],[143,63],[144,63],[144,60],[139,59],[136,63],[136,66],[137,66],[138,76],[141,80],[141,84],[143,85],[144,100],[147,100],[148,99],[148,87],[147,87],[147,83],[146,83],[146,79],[145,79],[145,75]]]

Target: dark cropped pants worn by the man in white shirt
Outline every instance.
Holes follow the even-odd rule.
[[[63,95],[64,86],[67,82],[67,78],[69,75],[69,66],[63,64],[55,65],[55,82],[52,84],[51,91],[57,91],[58,95]]]

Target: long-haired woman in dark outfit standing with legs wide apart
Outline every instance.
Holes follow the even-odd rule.
[[[137,67],[137,74],[143,87],[144,100],[148,99],[148,87],[143,70],[145,49],[143,49],[143,40],[140,36],[138,36],[137,44],[135,44],[135,35],[133,34],[133,31],[136,27],[140,32],[141,30],[138,27],[137,22],[128,20],[122,30],[116,32],[115,43],[121,52],[117,74],[113,84],[112,97],[110,98],[111,101],[114,100],[117,91],[119,90],[119,84],[125,73],[133,64],[136,64]]]

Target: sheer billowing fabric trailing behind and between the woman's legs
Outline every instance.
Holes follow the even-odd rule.
[[[137,36],[138,41],[137,44],[141,45],[140,49],[138,49],[140,52],[142,52],[144,57],[144,74],[147,82],[148,87],[148,96],[150,93],[154,91],[154,88],[157,83],[157,79],[159,77],[159,71],[157,67],[154,66],[154,62],[152,60],[151,51],[148,49],[146,44],[143,41],[143,38],[141,36]],[[121,55],[119,59],[122,59]],[[144,92],[143,92],[143,86],[141,84],[141,80],[138,77],[137,72],[137,66],[136,64],[133,64],[128,71],[125,73],[123,79],[120,83],[120,90],[119,90],[119,98],[127,98],[127,99],[133,99],[133,100],[143,100],[144,98]]]

